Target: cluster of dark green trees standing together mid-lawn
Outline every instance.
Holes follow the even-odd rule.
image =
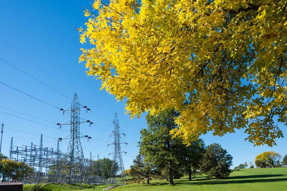
[[[232,157],[219,144],[205,147],[202,139],[188,145],[182,139],[172,137],[170,130],[176,127],[174,119],[179,116],[175,110],[164,110],[158,115],[146,115],[146,129],[140,131],[140,151],[131,165],[129,176],[136,182],[152,178],[166,179],[174,184],[174,178],[206,174],[208,178],[224,179],[231,173]]]

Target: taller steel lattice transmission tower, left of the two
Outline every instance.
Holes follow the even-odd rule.
[[[60,178],[64,178],[65,182],[69,184],[71,182],[83,182],[84,173],[88,165],[88,160],[84,158],[83,149],[80,141],[80,138],[88,137],[88,136],[80,136],[80,123],[82,123],[80,122],[81,109],[90,110],[86,106],[81,107],[78,101],[77,94],[75,93],[70,108],[71,138],[67,149],[67,155],[63,163],[63,169],[60,175]],[[88,139],[91,139],[91,137],[88,137]]]

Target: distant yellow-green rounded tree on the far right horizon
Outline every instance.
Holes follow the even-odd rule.
[[[255,157],[255,164],[258,167],[279,167],[281,155],[274,151],[261,153]],[[257,165],[258,164],[258,165]]]

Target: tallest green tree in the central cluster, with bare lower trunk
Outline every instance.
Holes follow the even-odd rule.
[[[173,171],[178,171],[181,161],[182,140],[169,134],[176,124],[174,118],[178,116],[175,110],[164,110],[157,116],[148,113],[146,121],[147,129],[140,131],[139,141],[140,153],[145,163],[151,163],[162,172],[162,175],[173,183]]]

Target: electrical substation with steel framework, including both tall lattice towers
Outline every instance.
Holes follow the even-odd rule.
[[[122,151],[120,145],[122,143],[120,142],[120,135],[125,134],[120,134],[119,132],[119,119],[117,113],[115,114],[115,119],[113,121],[114,131],[110,135],[114,137],[114,143],[109,144],[114,146],[113,153],[110,153],[113,154],[112,165],[110,167],[110,174],[106,175],[105,162],[100,163],[99,159],[93,161],[92,154],[90,154],[90,159],[85,158],[80,142],[81,138],[91,139],[91,137],[88,137],[87,135],[80,134],[80,124],[93,123],[89,120],[81,122],[79,117],[80,110],[88,111],[90,109],[79,104],[77,94],[75,93],[71,108],[60,110],[63,112],[69,110],[71,112],[70,123],[57,124],[59,125],[59,128],[61,128],[62,125],[70,125],[71,137],[67,152],[62,152],[59,149],[59,142],[63,140],[62,138],[58,139],[56,149],[43,146],[42,135],[39,145],[31,143],[31,145],[22,145],[21,147],[13,146],[13,137],[11,138],[9,159],[21,161],[34,167],[34,173],[22,182],[24,184],[37,184],[39,182],[80,183],[80,185],[82,185],[82,183],[124,184],[123,172],[125,169],[121,155]]]

